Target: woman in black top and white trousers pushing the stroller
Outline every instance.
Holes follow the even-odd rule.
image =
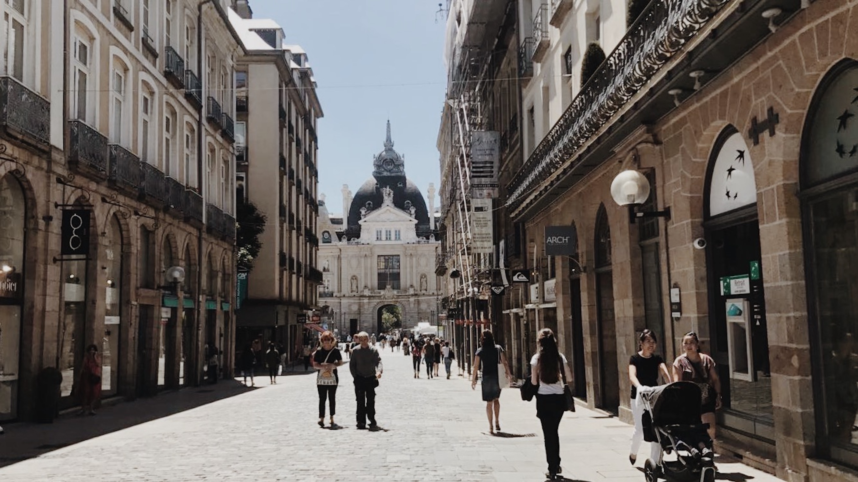
[[[637,461],[637,450],[644,440],[644,403],[641,394],[650,391],[658,385],[659,374],[664,375],[666,381],[670,381],[668,365],[664,358],[656,353],[656,334],[649,329],[644,329],[640,337],[640,351],[631,355],[629,359],[629,380],[631,381],[631,415],[635,420],[635,431],[631,434],[631,449],[629,461],[635,465]],[[650,459],[657,461],[661,453],[661,447],[656,442],[650,442]]]

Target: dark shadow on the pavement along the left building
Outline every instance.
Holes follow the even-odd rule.
[[[234,380],[222,380],[220,383],[167,391],[136,401],[118,401],[110,407],[100,408],[95,416],[72,412],[61,414],[52,424],[4,424],[6,433],[0,436],[0,467],[258,388],[245,387]]]

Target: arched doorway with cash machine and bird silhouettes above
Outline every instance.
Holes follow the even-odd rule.
[[[704,195],[710,352],[722,425],[771,439],[773,419],[757,184],[751,151],[730,125],[710,155]],[[705,338],[703,336],[702,338]]]

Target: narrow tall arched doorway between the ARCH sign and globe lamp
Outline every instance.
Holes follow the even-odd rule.
[[[619,411],[619,366],[617,365],[617,325],[613,310],[611,262],[611,227],[607,223],[607,210],[602,204],[595,216],[595,296],[601,382],[600,408],[617,413]]]

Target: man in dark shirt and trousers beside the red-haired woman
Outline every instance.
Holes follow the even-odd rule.
[[[381,428],[375,419],[375,389],[384,369],[378,350],[370,346],[370,335],[361,331],[357,339],[360,345],[354,347],[348,368],[352,371],[354,396],[358,402],[358,430],[366,430],[366,419],[369,419],[369,430],[379,431]]]

